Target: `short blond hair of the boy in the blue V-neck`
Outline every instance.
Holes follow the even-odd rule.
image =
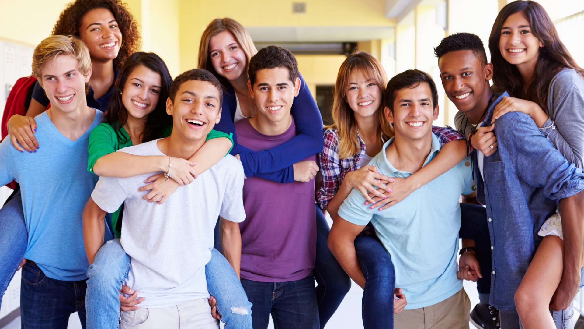
[[[39,43],[33,52],[33,74],[41,78],[41,70],[58,56],[69,55],[79,62],[78,70],[84,76],[91,70],[89,49],[81,39],[75,36],[55,35]]]

